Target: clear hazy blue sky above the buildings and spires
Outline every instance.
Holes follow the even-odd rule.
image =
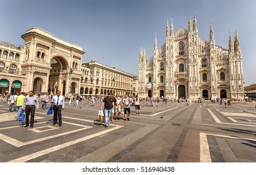
[[[229,31],[238,31],[245,85],[256,83],[256,1],[171,0],[0,0],[0,40],[24,46],[21,35],[40,27],[83,47],[83,62],[99,61],[138,74],[139,51],[146,47],[151,58],[154,36],[163,45],[166,21],[173,18],[174,32],[188,29],[188,17],[196,12],[198,34],[209,40],[213,22],[216,45],[228,47]],[[170,23],[169,23],[170,24]]]

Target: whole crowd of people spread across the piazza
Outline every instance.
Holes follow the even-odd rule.
[[[156,97],[156,98],[139,98],[138,96],[119,96],[119,94],[107,93],[107,96],[83,96],[80,94],[67,94],[65,96],[60,95],[60,91],[56,91],[56,95],[53,96],[49,93],[45,94],[35,94],[33,91],[29,91],[28,93],[22,92],[21,94],[8,94],[4,95],[3,98],[6,98],[9,104],[9,112],[13,112],[18,110],[16,115],[16,120],[19,119],[22,109],[24,109],[26,113],[26,125],[28,127],[29,124],[29,114],[31,116],[31,128],[33,128],[35,110],[38,108],[48,109],[53,108],[53,124],[56,124],[58,121],[59,126],[61,126],[61,111],[64,109],[65,103],[68,105],[73,104],[73,106],[78,106],[78,103],[81,104],[91,104],[94,106],[95,103],[102,103],[100,106],[100,110],[104,110],[104,124],[105,127],[109,126],[109,120],[120,120],[120,114],[124,115],[122,119],[124,121],[130,121],[131,107],[135,107],[136,116],[140,115],[141,105],[149,106],[149,107],[157,107],[156,104],[159,104],[160,101],[163,101],[162,104],[171,104],[178,103],[178,106],[181,103],[186,101],[186,105],[191,105],[191,99],[187,98],[166,98],[166,97]],[[201,103],[205,101],[205,98],[198,98],[197,103]],[[219,103],[220,105],[227,106],[232,105],[232,99],[210,99],[211,103]],[[124,110],[123,110],[124,109]]]

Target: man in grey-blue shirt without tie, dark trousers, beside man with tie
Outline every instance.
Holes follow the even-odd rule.
[[[38,97],[35,96],[34,91],[29,91],[28,96],[24,99],[24,103],[22,105],[21,109],[24,109],[25,107],[25,113],[26,113],[26,125],[24,126],[25,128],[28,127],[29,124],[29,113],[30,113],[30,127],[34,127],[34,117],[35,117],[35,110],[38,111],[39,107],[39,102],[38,102]]]

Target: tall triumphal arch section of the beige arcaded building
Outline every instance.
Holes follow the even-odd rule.
[[[23,75],[25,91],[35,93],[78,94],[82,77],[82,47],[33,27],[21,36],[24,39]]]

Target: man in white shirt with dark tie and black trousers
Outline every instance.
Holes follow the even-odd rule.
[[[61,119],[61,110],[64,109],[65,99],[60,95],[60,91],[56,92],[56,95],[51,99],[51,103],[53,103],[53,125],[57,123],[57,116],[59,121],[59,126],[62,124]]]

